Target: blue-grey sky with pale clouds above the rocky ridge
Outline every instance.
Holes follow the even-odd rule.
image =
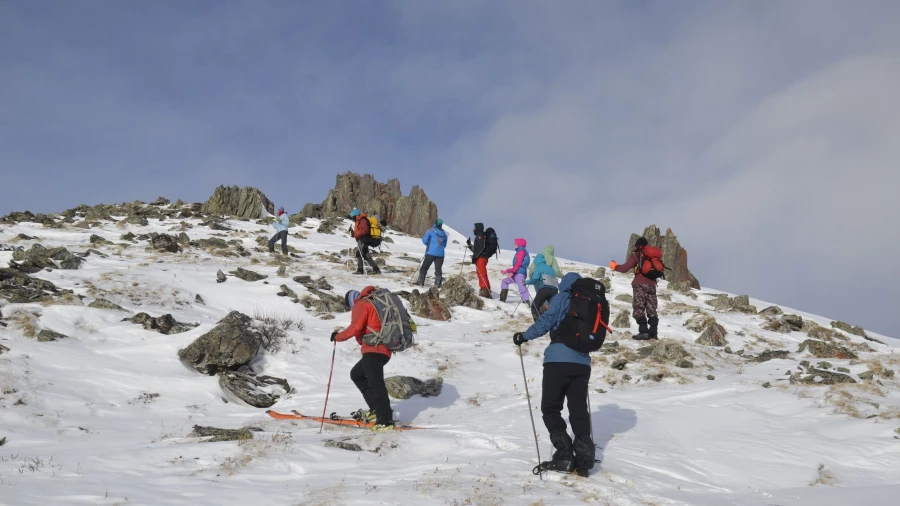
[[[346,171],[461,231],[900,337],[900,2],[0,0],[0,214],[290,212]],[[450,250],[462,256],[462,251]]]

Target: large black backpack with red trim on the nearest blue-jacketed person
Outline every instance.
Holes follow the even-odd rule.
[[[551,333],[553,342],[561,342],[579,353],[597,351],[606,339],[609,304],[606,287],[591,278],[581,278],[567,290],[571,294],[569,309]]]

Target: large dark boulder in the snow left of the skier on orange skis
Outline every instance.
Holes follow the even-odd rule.
[[[253,327],[253,319],[232,311],[215,328],[178,351],[188,367],[210,376],[233,371],[246,365],[262,347],[262,337]]]

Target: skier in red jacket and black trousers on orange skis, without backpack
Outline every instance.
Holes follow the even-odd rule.
[[[383,344],[370,346],[362,340],[366,333],[381,330],[378,312],[366,299],[373,291],[374,286],[367,286],[362,292],[356,290],[347,292],[345,298],[351,309],[350,326],[342,332],[332,332],[331,340],[340,343],[356,338],[361,347],[362,358],[350,369],[350,379],[356,384],[369,407],[369,411],[363,414],[362,419],[372,421],[374,418],[376,426],[386,427],[394,424],[391,399],[384,384],[384,366],[391,359],[391,351]]]

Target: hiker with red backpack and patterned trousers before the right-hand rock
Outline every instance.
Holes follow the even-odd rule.
[[[613,260],[609,262],[609,268],[616,272],[628,272],[634,269],[634,280],[631,282],[634,297],[631,307],[634,310],[634,321],[638,324],[638,334],[634,336],[634,339],[638,341],[659,339],[657,335],[659,317],[656,313],[658,304],[656,280],[661,278],[665,272],[662,251],[655,246],[648,246],[647,239],[640,237],[625,263],[619,265]]]

